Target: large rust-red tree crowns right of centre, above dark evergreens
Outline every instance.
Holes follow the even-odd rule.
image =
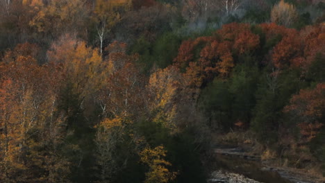
[[[258,49],[259,44],[260,38],[251,33],[249,24],[227,24],[217,30],[217,36],[184,41],[174,65],[180,69],[186,68],[186,75],[192,80],[190,85],[200,87],[203,80],[228,76],[235,66],[233,53],[251,53]],[[195,49],[200,49],[201,45],[203,48],[199,58],[194,58]]]

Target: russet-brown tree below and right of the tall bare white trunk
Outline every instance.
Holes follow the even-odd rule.
[[[137,116],[143,112],[146,101],[144,76],[135,65],[137,55],[126,54],[126,44],[113,42],[108,46],[107,73],[97,102],[103,116]]]

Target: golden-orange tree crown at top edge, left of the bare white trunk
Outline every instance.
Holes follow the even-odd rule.
[[[39,33],[58,37],[61,33],[76,32],[85,37],[85,25],[89,17],[85,0],[53,0],[46,4],[40,0],[25,0],[24,3],[36,12],[29,25]]]

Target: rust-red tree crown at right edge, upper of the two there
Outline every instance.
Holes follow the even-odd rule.
[[[325,28],[322,26],[307,26],[300,32],[272,24],[260,24],[266,41],[282,39],[274,46],[272,60],[278,68],[301,67],[307,69],[317,53],[325,51]]]

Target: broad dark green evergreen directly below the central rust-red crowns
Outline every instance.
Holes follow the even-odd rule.
[[[249,126],[259,71],[253,59],[247,58],[233,69],[228,81],[215,78],[202,90],[199,106],[209,116],[211,127],[227,131],[238,121]]]

